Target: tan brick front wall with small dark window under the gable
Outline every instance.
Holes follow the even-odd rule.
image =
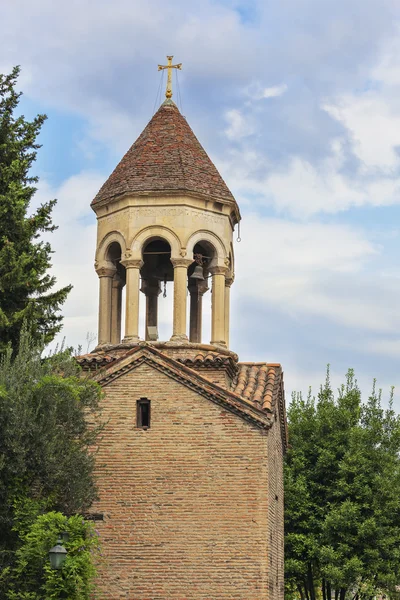
[[[277,436],[146,364],[104,391],[101,499],[93,507],[105,515],[100,597],[272,598],[268,567],[278,561],[280,581],[283,532],[268,546],[283,493],[276,501],[279,465],[268,485],[267,445],[279,461]],[[140,397],[151,400],[147,431],[136,428]]]

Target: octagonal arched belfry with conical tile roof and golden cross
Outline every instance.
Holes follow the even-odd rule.
[[[146,297],[146,341],[204,342],[202,299],[211,293],[210,344],[229,347],[232,235],[240,212],[171,99],[171,70],[180,66],[172,65],[172,57],[159,66],[168,69],[166,99],[92,202],[98,221],[98,349],[140,341],[140,293]],[[167,282],[174,288],[172,335],[158,340],[158,299]]]

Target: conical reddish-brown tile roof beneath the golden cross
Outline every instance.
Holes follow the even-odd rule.
[[[161,105],[92,205],[125,194],[148,192],[195,192],[236,204],[172,100]]]

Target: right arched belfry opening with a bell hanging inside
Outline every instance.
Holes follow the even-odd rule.
[[[206,320],[206,336],[211,332],[210,265],[216,259],[214,246],[205,240],[197,242],[193,248],[193,264],[188,269],[189,341],[201,343],[203,339],[203,316]],[[201,267],[201,268],[200,268]]]

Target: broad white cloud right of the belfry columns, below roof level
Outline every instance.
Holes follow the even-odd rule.
[[[366,332],[400,328],[400,283],[381,275],[374,259],[382,249],[362,231],[252,215],[242,239],[236,247],[242,296],[299,320],[322,318]]]

